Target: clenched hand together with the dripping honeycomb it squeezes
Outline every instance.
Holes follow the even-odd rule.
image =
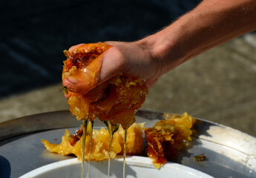
[[[150,50],[137,49],[134,43],[98,42],[71,47],[70,52],[65,50],[68,59],[62,71],[63,90],[77,119],[97,116],[125,128],[135,122],[134,113],[148,93],[146,82],[154,82],[151,79],[155,75],[151,73],[154,65],[141,72],[144,65],[154,63],[154,58]],[[138,70],[133,70],[133,66]]]

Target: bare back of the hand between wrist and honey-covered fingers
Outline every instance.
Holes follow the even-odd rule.
[[[112,45],[103,56],[100,81],[122,74],[154,85],[160,77],[160,61],[150,45],[143,42],[106,42]]]

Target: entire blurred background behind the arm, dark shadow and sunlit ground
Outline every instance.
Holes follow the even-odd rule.
[[[67,110],[63,50],[79,43],[134,41],[199,0],[11,0],[0,2],[0,122]],[[192,23],[192,22],[191,22]],[[256,136],[256,34],[191,59],[150,89],[142,109],[188,112]]]

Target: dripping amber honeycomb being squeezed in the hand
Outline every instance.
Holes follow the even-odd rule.
[[[77,119],[98,117],[126,129],[135,122],[134,114],[145,101],[148,86],[125,73],[96,86],[103,54],[111,47],[98,42],[83,44],[71,52],[65,50],[68,59],[62,71],[63,90]],[[76,85],[70,85],[72,82]]]

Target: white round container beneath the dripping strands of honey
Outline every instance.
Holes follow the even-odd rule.
[[[122,158],[111,159],[111,178],[122,177]],[[140,178],[188,178],[188,177],[206,177],[208,174],[197,171],[193,168],[180,165],[177,163],[168,162],[160,168],[154,168],[152,160],[142,156],[128,156],[125,165],[125,177],[140,177]],[[85,162],[85,171],[88,170],[88,162]],[[91,162],[90,177],[107,177],[108,161]],[[86,172],[85,172],[86,175]],[[54,162],[49,165],[36,168],[20,178],[77,178],[81,177],[81,162],[75,159],[67,159],[60,162]],[[86,177],[86,176],[85,176]]]

